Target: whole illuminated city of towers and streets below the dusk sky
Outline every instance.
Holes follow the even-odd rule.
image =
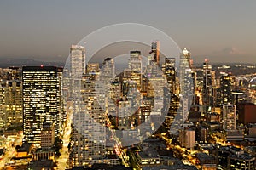
[[[130,51],[118,75],[115,59],[86,63],[86,45],[69,48],[64,68],[2,68],[0,169],[253,170],[254,67],[195,67],[187,48],[161,63],[161,44],[145,65]]]

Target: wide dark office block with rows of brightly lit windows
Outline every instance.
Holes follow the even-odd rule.
[[[44,122],[54,123],[55,137],[60,128],[60,80],[55,66],[24,66],[23,142],[40,144]]]

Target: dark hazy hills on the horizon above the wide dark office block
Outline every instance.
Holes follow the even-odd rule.
[[[37,66],[37,65],[45,65],[45,66],[64,66],[63,62],[45,62],[39,61],[36,59],[11,59],[11,58],[0,58],[0,68],[6,68],[9,66]]]

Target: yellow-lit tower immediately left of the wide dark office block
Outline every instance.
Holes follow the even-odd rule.
[[[22,123],[22,85],[19,80],[7,82],[5,88],[5,105],[6,125]]]

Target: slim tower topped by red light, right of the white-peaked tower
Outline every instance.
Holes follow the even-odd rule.
[[[212,106],[212,65],[205,59],[203,64],[203,104]]]

